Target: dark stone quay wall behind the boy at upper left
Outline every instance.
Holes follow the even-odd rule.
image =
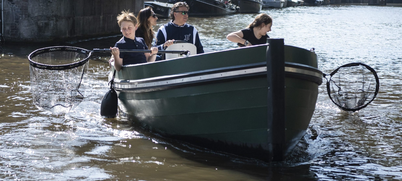
[[[118,34],[122,10],[137,14],[144,0],[3,0],[4,39],[51,42]]]

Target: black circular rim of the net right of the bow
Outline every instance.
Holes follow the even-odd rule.
[[[379,79],[378,79],[378,76],[377,76],[377,72],[375,72],[375,70],[374,70],[373,68],[371,68],[370,66],[368,66],[368,65],[366,65],[366,64],[359,63],[359,62],[354,62],[354,63],[345,64],[345,65],[343,65],[343,66],[340,66],[340,67],[336,68],[336,69],[335,69],[334,71],[332,71],[329,75],[330,75],[331,78],[332,78],[332,76],[333,76],[336,72],[338,72],[338,70],[339,70],[340,68],[343,68],[343,67],[350,67],[350,66],[359,66],[359,65],[365,66],[368,70],[370,70],[370,72],[373,73],[373,75],[374,75],[374,77],[375,77],[375,83],[376,83],[376,84],[375,84],[375,93],[374,93],[373,99],[371,99],[367,104],[365,104],[365,105],[363,105],[363,106],[361,106],[361,107],[357,107],[357,108],[346,108],[346,107],[343,107],[343,106],[337,104],[337,103],[332,99],[332,97],[331,97],[330,81],[327,80],[327,83],[326,83],[326,85],[327,85],[327,93],[328,93],[328,96],[329,96],[329,98],[331,99],[332,103],[334,103],[336,106],[338,106],[340,109],[342,109],[342,110],[344,110],[344,111],[353,111],[353,112],[359,111],[360,109],[363,109],[363,108],[365,108],[367,105],[369,105],[369,104],[371,103],[371,101],[373,101],[373,100],[375,99],[375,97],[377,97],[377,93],[378,93],[378,90],[379,90]],[[325,77],[325,76],[324,76],[324,77]],[[331,78],[330,78],[330,79],[331,79]]]

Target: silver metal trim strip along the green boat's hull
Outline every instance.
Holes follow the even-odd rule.
[[[322,73],[320,72],[320,70],[314,67],[302,64],[288,63],[285,66],[286,77],[310,80],[319,85],[322,83]],[[115,80],[115,89],[120,92],[148,92],[152,90],[176,88],[178,86],[193,86],[195,84],[261,77],[266,74],[266,64],[259,63],[142,80]]]

